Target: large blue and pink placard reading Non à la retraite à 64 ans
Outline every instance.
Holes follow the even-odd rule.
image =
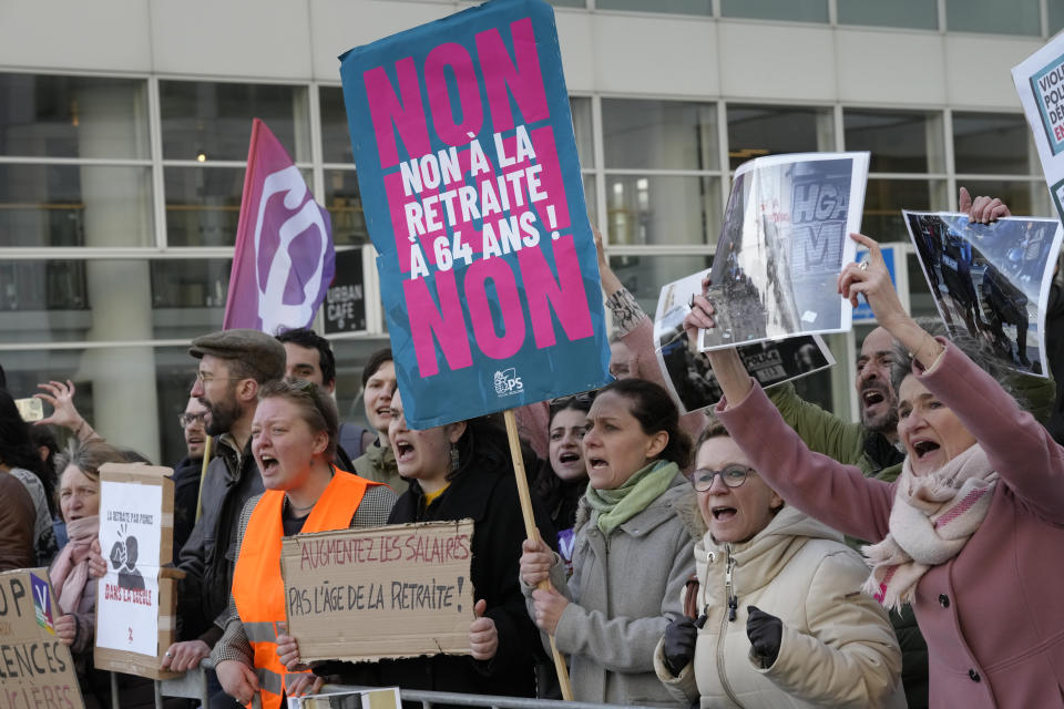
[[[492,0],[340,59],[410,425],[610,381],[551,7]]]

